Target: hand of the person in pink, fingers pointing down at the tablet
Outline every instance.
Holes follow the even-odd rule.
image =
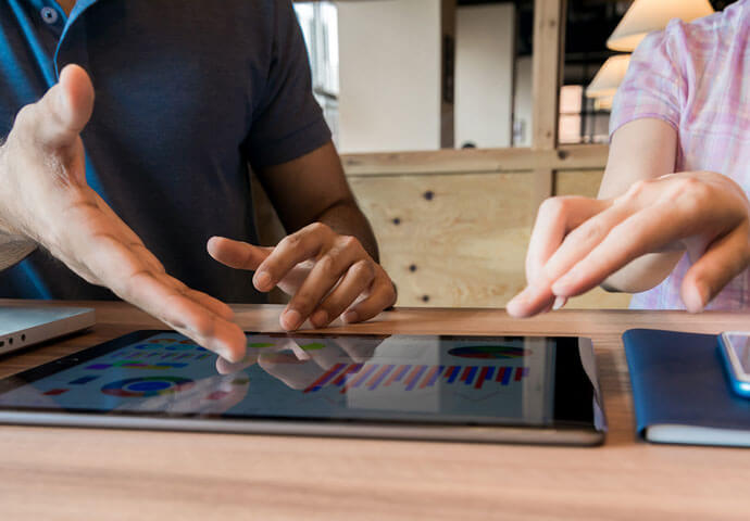
[[[693,264],[682,298],[698,313],[750,264],[749,214],[742,188],[710,171],[638,181],[609,200],[547,200],[526,257],[528,287],[508,303],[508,313],[542,313],[642,255],[685,250]]]

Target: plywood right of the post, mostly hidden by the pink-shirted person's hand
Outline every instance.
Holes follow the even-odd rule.
[[[603,171],[559,171],[555,174],[555,195],[584,195],[596,198]],[[572,309],[621,309],[626,308],[630,295],[626,293],[608,293],[596,289],[585,295],[573,298],[565,307]]]

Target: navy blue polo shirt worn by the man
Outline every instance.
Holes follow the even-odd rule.
[[[65,64],[91,77],[89,185],[167,272],[227,302],[262,302],[211,259],[214,234],[257,241],[248,165],[330,139],[287,0],[0,0],[0,137]],[[49,253],[0,274],[0,296],[111,298]]]

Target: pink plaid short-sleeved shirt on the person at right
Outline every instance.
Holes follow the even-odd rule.
[[[745,74],[745,73],[748,74]],[[652,117],[678,134],[675,171],[711,170],[750,190],[750,0],[649,35],[633,54],[617,91],[610,136]],[[659,285],[634,295],[635,309],[684,309],[679,288],[687,254]],[[708,309],[750,308],[750,270],[735,278]]]

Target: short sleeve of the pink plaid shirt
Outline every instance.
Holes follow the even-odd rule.
[[[684,27],[672,22],[664,31],[647,36],[630,58],[630,65],[617,89],[610,117],[610,139],[635,119],[657,118],[679,128],[685,103],[686,78],[683,53]]]

